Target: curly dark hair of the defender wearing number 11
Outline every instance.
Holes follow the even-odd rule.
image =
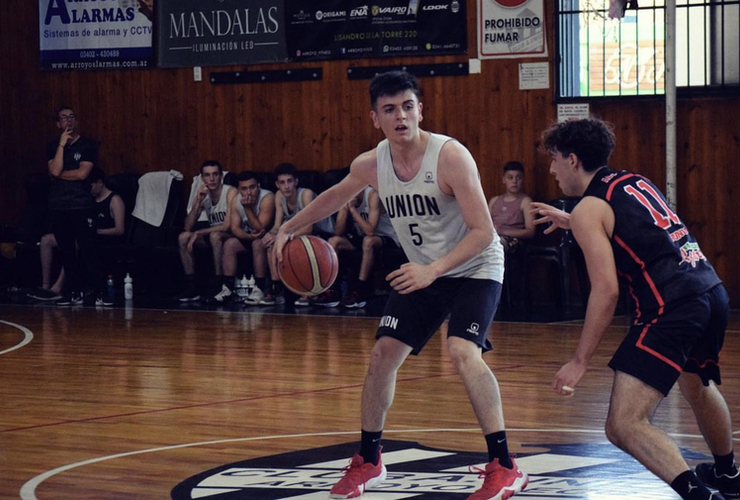
[[[586,172],[605,166],[617,142],[611,125],[596,118],[557,123],[545,130],[542,138],[547,152],[575,154]]]

